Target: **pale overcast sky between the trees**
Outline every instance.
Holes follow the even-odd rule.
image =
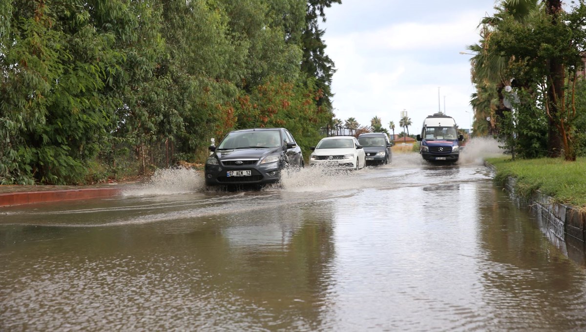
[[[427,115],[445,110],[459,128],[470,128],[471,56],[459,52],[478,43],[479,22],[494,6],[494,0],[342,0],[326,8],[321,27],[338,70],[336,118],[370,125],[377,116],[387,129],[394,121],[398,134],[405,110],[409,133],[418,134]]]

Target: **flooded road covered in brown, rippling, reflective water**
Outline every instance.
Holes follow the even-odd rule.
[[[584,330],[585,267],[481,163],[420,159],[4,208],[0,330]]]

